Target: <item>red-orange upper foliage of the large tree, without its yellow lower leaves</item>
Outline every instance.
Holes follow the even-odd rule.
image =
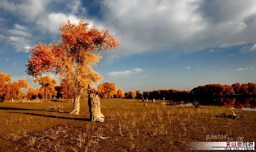
[[[78,25],[68,21],[59,30],[62,38],[59,43],[54,46],[39,43],[31,48],[32,56],[26,65],[29,75],[37,77],[53,70],[57,74],[74,72],[75,65],[92,66],[98,62],[95,50],[115,49],[119,45],[109,30],[89,29],[89,22],[83,19]]]

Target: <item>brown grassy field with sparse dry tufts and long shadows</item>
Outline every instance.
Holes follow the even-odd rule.
[[[256,111],[224,107],[164,106],[132,99],[101,99],[105,122],[90,122],[87,100],[80,115],[71,100],[0,103],[0,151],[186,151],[191,141],[255,141]],[[51,109],[51,108],[62,109]],[[226,139],[206,139],[225,135]]]

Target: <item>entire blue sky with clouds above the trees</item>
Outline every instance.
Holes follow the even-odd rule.
[[[26,79],[30,47],[83,17],[120,45],[94,67],[124,91],[256,83],[256,1],[0,1],[0,72]],[[54,78],[53,74],[50,74]]]

